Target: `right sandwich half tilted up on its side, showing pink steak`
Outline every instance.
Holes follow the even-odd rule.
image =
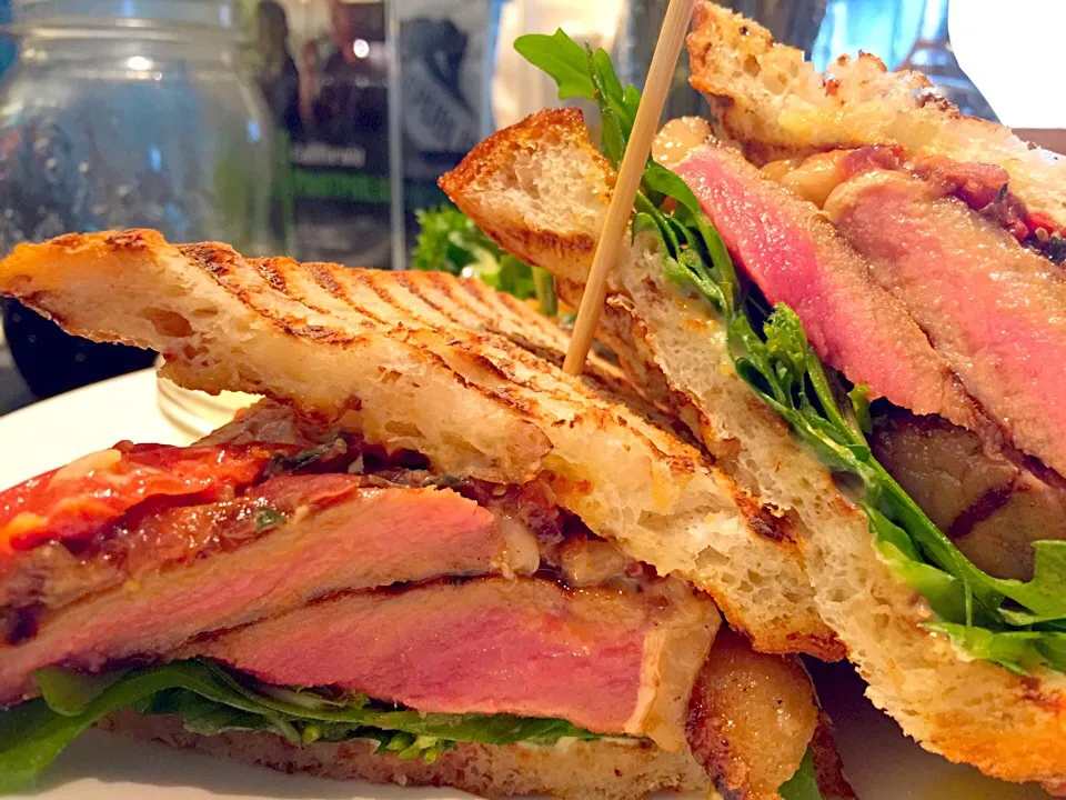
[[[762,507],[816,608],[927,749],[1066,791],[1063,166],[872,57],[816,74],[703,2],[600,338]],[[441,186],[580,300],[640,94],[562,31],[516,48],[600,104],[479,144]]]

